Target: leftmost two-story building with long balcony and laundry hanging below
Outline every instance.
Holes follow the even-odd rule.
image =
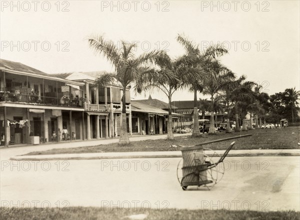
[[[1,59],[1,145],[84,139],[83,88],[81,82]]]

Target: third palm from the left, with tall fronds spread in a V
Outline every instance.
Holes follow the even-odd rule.
[[[216,57],[221,56],[228,51],[220,45],[211,45],[205,50],[200,51],[198,45],[190,41],[187,37],[179,34],[177,36],[177,41],[182,44],[187,55],[195,57],[192,65],[194,67],[198,66],[199,68],[203,69],[202,74],[200,74],[200,78],[186,83],[186,86],[189,87],[189,90],[194,93],[193,130],[191,136],[198,137],[200,136],[200,130],[198,122],[197,92],[202,92],[204,88],[204,81],[207,79],[207,77],[209,77],[209,73],[206,68],[207,63],[215,60]]]

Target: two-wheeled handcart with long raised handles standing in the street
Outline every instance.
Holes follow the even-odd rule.
[[[204,186],[210,190],[218,183],[224,175],[223,160],[235,142],[229,145],[222,156],[211,149],[203,148],[203,145],[248,136],[251,134],[208,141],[190,147],[182,146],[182,159],[177,165],[177,179],[182,190],[186,190],[188,186]]]

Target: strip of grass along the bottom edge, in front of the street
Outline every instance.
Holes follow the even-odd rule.
[[[130,209],[128,211],[94,208],[70,207],[59,209],[20,209],[0,208],[1,220],[125,220],[130,215],[146,215],[145,220],[299,220],[300,214],[286,212],[224,211],[224,210],[177,210],[166,211]]]

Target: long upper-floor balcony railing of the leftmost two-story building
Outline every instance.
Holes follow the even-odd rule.
[[[50,105],[50,106],[67,106],[67,107],[77,107],[83,108],[84,99],[73,98],[69,99],[67,97],[48,97],[48,96],[38,96],[38,95],[26,95],[11,92],[0,91],[0,102],[13,102],[19,104],[32,104],[32,105]]]

